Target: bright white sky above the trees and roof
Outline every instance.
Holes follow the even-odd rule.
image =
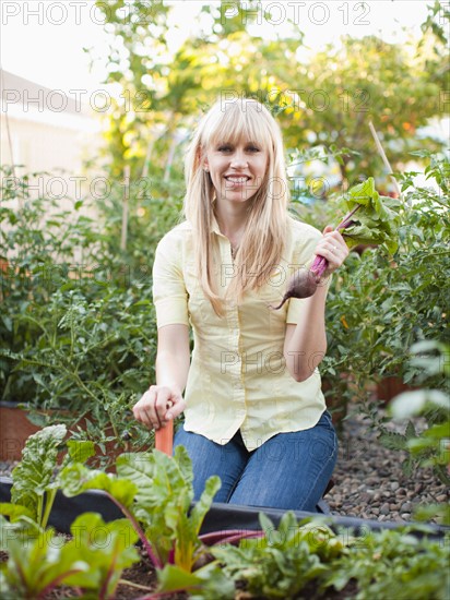
[[[127,1],[127,0],[126,0]],[[316,51],[327,43],[336,43],[341,35],[360,37],[376,34],[388,41],[402,41],[407,35],[419,36],[419,25],[433,0],[313,0],[265,1],[271,17],[257,13],[253,32],[264,37],[286,31],[286,20],[295,21],[305,33],[305,44]],[[211,2],[217,4],[217,2]],[[149,11],[141,14],[150,22]],[[175,50],[199,26],[201,1],[176,0],[169,34]],[[236,2],[228,3],[222,17],[232,15]],[[5,71],[34,81],[50,89],[85,89],[92,93],[104,88],[105,59],[108,36],[100,13],[93,0],[2,0],[0,60]],[[97,57],[90,67],[90,56],[83,48],[93,48]]]

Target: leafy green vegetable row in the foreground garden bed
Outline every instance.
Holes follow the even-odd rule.
[[[107,599],[119,585],[131,590],[127,597],[142,599],[173,592],[208,599],[448,598],[450,547],[442,530],[416,524],[363,535],[318,517],[298,521],[287,512],[277,527],[260,513],[259,530],[202,535],[221,482],[210,478],[191,507],[185,448],[174,457],[123,454],[112,475],[85,465],[95,452],[92,442],[66,437],[64,425],[31,436],[13,470],[12,503],[0,505],[1,549],[8,551],[2,598],[43,599],[63,586],[68,596]],[[59,490],[67,496],[102,490],[122,518],[105,523],[98,513],[83,513],[70,539],[58,537],[48,520]],[[141,560],[138,541],[156,572],[155,581],[149,571],[146,586],[123,577]]]

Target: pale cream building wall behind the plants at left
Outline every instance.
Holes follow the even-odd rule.
[[[52,110],[51,105],[49,109],[46,94],[51,91],[12,74],[2,75],[1,166],[14,164],[17,178],[31,176],[32,199],[54,199],[55,209],[69,211],[74,219],[80,214],[96,217],[94,202],[83,205],[81,212],[73,209],[73,203],[88,199],[90,184],[98,175],[87,171],[85,160],[98,156],[103,144],[99,116],[74,103],[67,103],[64,110]],[[35,101],[27,103],[26,98]],[[20,202],[11,201],[9,206],[19,211]],[[2,228],[8,225],[3,223]],[[14,250],[8,254],[12,260]],[[78,249],[74,255],[79,255]]]

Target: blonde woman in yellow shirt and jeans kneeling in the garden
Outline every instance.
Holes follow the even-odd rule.
[[[317,367],[347,247],[288,215],[281,131],[256,100],[216,103],[185,167],[186,221],[161,240],[153,271],[156,385],[134,416],[158,429],[185,412],[175,446],[192,459],[196,497],[218,475],[215,502],[315,511],[338,452]],[[273,310],[315,253],[329,261],[315,296]]]

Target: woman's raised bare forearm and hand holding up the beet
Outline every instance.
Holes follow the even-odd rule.
[[[286,325],[284,358],[286,368],[295,381],[305,381],[320,364],[327,352],[325,300],[328,286],[325,279],[339,268],[348,255],[344,238],[332,227],[325,227],[323,238],[316,247],[329,262],[321,285],[310,298],[304,299],[305,310],[296,325]]]

